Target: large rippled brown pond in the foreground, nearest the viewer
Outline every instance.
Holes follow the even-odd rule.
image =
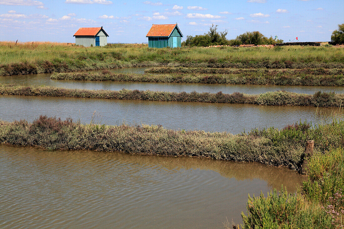
[[[302,177],[284,168],[197,158],[0,145],[0,228],[222,228],[248,194]]]

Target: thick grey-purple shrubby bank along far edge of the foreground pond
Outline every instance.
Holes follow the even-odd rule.
[[[344,122],[311,127],[295,124],[282,130],[252,130],[232,135],[226,132],[175,131],[161,126],[105,126],[81,124],[70,119],[41,116],[0,123],[0,143],[38,146],[57,150],[121,151],[131,154],[198,156],[216,160],[251,161],[299,170],[305,141],[315,140],[315,149],[328,150],[331,142],[342,146]]]

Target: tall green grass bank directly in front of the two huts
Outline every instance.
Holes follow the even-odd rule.
[[[344,68],[344,50],[333,47],[148,48],[58,43],[0,42],[0,76],[135,66],[227,68]]]

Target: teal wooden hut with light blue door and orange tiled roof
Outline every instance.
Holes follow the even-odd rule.
[[[146,37],[148,37],[148,47],[150,48],[178,48],[182,46],[183,34],[177,24],[153,24]]]

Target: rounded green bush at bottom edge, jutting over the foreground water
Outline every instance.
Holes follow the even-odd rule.
[[[247,202],[247,215],[241,213],[244,228],[332,228],[331,217],[318,206],[307,203],[300,194],[288,194],[286,189],[271,191],[267,197]]]

